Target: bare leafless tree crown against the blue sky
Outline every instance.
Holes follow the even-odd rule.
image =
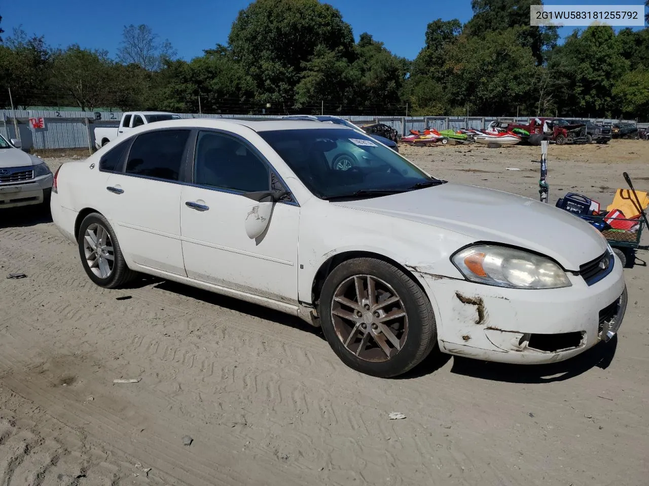
[[[158,42],[158,34],[151,27],[140,24],[124,26],[123,40],[117,51],[117,60],[122,64],[138,64],[147,71],[158,71],[165,59],[173,59],[177,52],[168,39]]]

